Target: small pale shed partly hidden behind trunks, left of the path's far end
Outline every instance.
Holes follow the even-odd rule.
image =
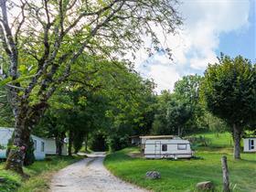
[[[45,138],[46,155],[57,155],[56,141],[54,138]],[[61,155],[68,155],[68,147],[66,140],[63,141]]]

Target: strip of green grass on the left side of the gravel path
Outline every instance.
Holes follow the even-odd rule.
[[[4,163],[0,163],[0,177],[5,177],[4,184],[0,183],[1,192],[43,192],[48,191],[48,183],[52,174],[59,169],[72,164],[82,157],[80,156],[48,156],[45,161],[37,161],[33,165],[24,168],[30,177],[24,179],[12,171],[4,170]]]

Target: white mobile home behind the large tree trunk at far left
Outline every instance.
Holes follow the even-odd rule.
[[[0,145],[6,147],[8,140],[12,137],[14,128],[0,128]],[[34,155],[37,160],[42,160],[46,157],[45,140],[32,134],[34,142]],[[6,158],[6,148],[0,149],[0,158]]]

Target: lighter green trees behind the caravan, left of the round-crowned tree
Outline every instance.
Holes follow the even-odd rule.
[[[173,93],[163,91],[157,96],[152,133],[193,133],[200,128],[203,107],[199,103],[199,84],[202,78],[189,75],[176,81]]]

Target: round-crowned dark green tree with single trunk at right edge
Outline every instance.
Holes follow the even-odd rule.
[[[244,127],[256,118],[256,68],[249,59],[221,55],[209,64],[201,86],[208,111],[226,121],[234,140],[234,158],[240,159]]]

